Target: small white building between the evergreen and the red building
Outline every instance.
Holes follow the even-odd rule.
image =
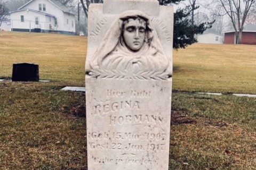
[[[218,33],[207,32],[197,35],[197,41],[203,44],[223,44],[224,38]]]

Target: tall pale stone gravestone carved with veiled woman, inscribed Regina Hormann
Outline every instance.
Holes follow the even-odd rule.
[[[85,64],[89,170],[168,169],[172,32],[172,6],[155,0],[90,5]]]

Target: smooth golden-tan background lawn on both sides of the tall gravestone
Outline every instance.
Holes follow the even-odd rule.
[[[12,64],[39,64],[41,79],[84,86],[87,38],[49,33],[0,32],[0,77]],[[256,94],[256,48],[194,44],[173,52],[173,89]]]

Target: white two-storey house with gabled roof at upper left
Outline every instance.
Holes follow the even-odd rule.
[[[31,0],[10,13],[12,31],[75,33],[75,14],[55,0]]]

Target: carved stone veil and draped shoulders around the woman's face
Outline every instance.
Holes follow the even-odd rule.
[[[126,47],[122,36],[124,21],[129,18],[146,21],[146,35],[142,47],[133,52]],[[169,66],[157,33],[149,16],[142,11],[126,11],[110,26],[90,62],[90,70],[119,70],[164,72]]]

